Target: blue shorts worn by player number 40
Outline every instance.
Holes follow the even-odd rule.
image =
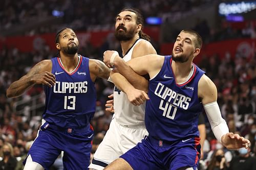
[[[149,136],[120,158],[126,160],[134,170],[176,170],[181,167],[198,169],[200,149],[200,138],[165,142]]]

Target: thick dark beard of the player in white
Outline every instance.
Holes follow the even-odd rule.
[[[122,29],[122,31],[119,31],[119,29]],[[116,28],[115,37],[118,41],[129,41],[134,37],[135,29],[136,26],[134,28],[131,28],[131,30],[127,31],[124,26],[120,25]]]

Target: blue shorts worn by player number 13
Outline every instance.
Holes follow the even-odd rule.
[[[88,169],[93,138],[93,130],[90,129],[90,125],[83,129],[59,129],[47,124],[41,126],[38,136],[28,152],[32,160],[45,169],[49,169],[60,152],[63,151],[64,169]]]

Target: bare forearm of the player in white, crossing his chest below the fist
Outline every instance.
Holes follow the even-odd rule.
[[[127,81],[129,81],[135,88],[147,92],[148,81],[138,75],[129,65],[127,65],[123,60],[115,60],[115,69],[123,75]]]

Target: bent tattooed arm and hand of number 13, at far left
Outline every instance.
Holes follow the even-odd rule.
[[[42,60],[37,63],[27,75],[13,82],[6,91],[8,98],[15,98],[22,95],[27,89],[34,84],[44,84],[49,87],[54,86],[55,76],[51,73],[51,60]]]

